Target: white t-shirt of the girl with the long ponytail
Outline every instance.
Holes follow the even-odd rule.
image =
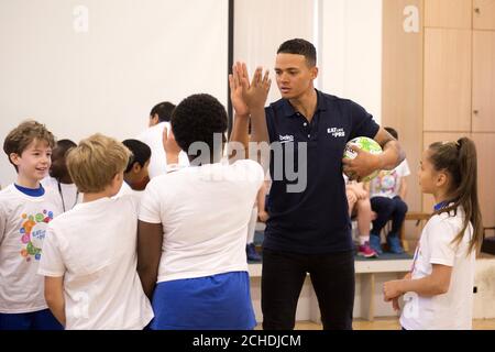
[[[469,242],[473,228],[464,232],[459,246],[452,240],[462,229],[463,211],[455,217],[447,213],[433,216],[422,230],[417,249],[413,278],[422,278],[432,273],[433,264],[452,267],[450,287],[447,294],[422,297],[407,294],[400,317],[406,330],[468,330],[472,328],[473,285],[475,272],[475,251],[469,255]]]

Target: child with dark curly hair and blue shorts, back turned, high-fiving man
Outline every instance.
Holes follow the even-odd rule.
[[[176,163],[183,150],[195,166],[153,178],[141,199],[138,270],[153,297],[152,329],[256,324],[245,241],[263,168],[253,161],[222,163],[226,131],[227,112],[217,99],[182,101],[165,143],[167,161]]]

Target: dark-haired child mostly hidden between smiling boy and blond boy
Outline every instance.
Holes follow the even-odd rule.
[[[79,194],[67,170],[65,158],[67,152],[76,145],[70,140],[57,141],[53,148],[50,176],[42,179],[43,187],[51,188],[58,194],[58,201],[64,212],[73,209],[78,202],[82,201],[82,195]]]

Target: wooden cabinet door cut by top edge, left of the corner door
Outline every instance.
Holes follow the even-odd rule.
[[[472,0],[425,0],[425,26],[471,29]]]

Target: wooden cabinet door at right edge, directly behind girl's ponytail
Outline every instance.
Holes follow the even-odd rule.
[[[477,194],[485,227],[495,227],[495,133],[473,133],[477,152]]]

